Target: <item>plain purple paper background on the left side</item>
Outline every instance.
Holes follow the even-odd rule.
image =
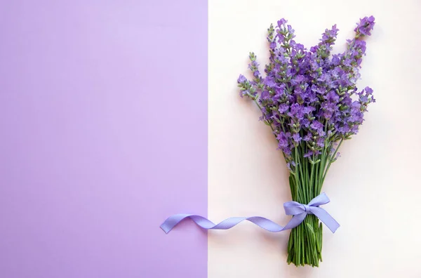
[[[207,5],[1,1],[0,277],[206,277]]]

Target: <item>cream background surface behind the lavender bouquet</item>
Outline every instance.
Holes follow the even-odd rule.
[[[375,15],[359,87],[377,102],[361,131],[330,168],[324,206],[340,223],[324,230],[319,269],[286,264],[289,232],[250,223],[211,231],[208,277],[421,277],[421,1],[209,0],[209,180],[211,220],[265,216],[286,224],[286,165],[260,112],[239,98],[236,78],[248,52],[267,62],[266,29],[286,18],[296,41],[317,44],[326,27],[340,29],[345,48],[355,22]]]

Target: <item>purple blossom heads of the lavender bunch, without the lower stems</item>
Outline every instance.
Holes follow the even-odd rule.
[[[253,79],[239,76],[240,95],[258,103],[261,119],[272,127],[288,167],[299,163],[297,154],[312,164],[321,157],[334,161],[335,142],[358,132],[368,104],[375,102],[371,88],[356,88],[361,58],[366,54],[362,39],[370,35],[374,24],[373,16],[361,19],[346,51],[331,55],[338,35],[336,25],[307,50],[295,42],[294,29],[281,19],[276,27],[267,29],[270,55],[265,76],[255,54],[250,53]]]

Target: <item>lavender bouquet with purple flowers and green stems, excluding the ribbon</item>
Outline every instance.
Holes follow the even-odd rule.
[[[262,120],[278,141],[290,176],[293,201],[307,204],[321,193],[330,165],[338,159],[340,145],[356,134],[370,102],[369,87],[359,91],[363,38],[374,27],[373,16],[357,23],[355,37],[344,53],[330,55],[338,34],[336,25],[326,29],[309,51],[294,41],[294,30],[281,19],[267,29],[269,64],[260,74],[254,53],[249,69],[253,79],[237,80],[241,97],[253,100]],[[322,225],[314,215],[293,228],[288,241],[288,263],[319,266]]]

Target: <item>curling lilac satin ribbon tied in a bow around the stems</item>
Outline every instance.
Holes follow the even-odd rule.
[[[194,214],[185,214],[179,213],[173,216],[168,217],[161,225],[161,229],[168,234],[173,227],[178,225],[182,220],[186,218],[190,218],[198,225],[206,230],[228,230],[235,225],[239,224],[243,220],[248,220],[255,225],[258,225],[262,229],[265,229],[269,232],[281,232],[284,230],[289,230],[294,227],[297,227],[302,223],[304,218],[307,214],[314,214],[323,222],[326,226],[328,226],[329,230],[335,232],[338,227],[340,227],[339,223],[330,216],[327,211],[324,209],[319,208],[319,206],[323,204],[328,204],[330,199],[326,196],[325,193],[321,193],[319,196],[312,199],[309,204],[300,204],[297,201],[287,201],[283,204],[283,209],[285,209],[285,213],[288,216],[293,216],[293,218],[286,224],[285,227],[274,223],[273,221],[263,218],[260,216],[252,216],[252,217],[232,217],[223,220],[221,223],[216,224],[211,222],[210,220],[204,218],[203,216],[196,216]]]

